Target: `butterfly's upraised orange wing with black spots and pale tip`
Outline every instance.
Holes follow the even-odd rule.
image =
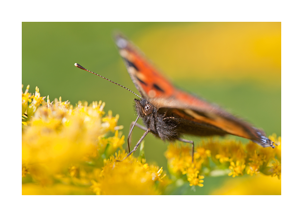
[[[178,101],[180,105],[191,105],[197,109],[210,111],[214,105],[194,97],[190,93],[175,88],[144,57],[131,42],[121,35],[115,36],[120,55],[137,90],[144,97]],[[220,111],[221,112],[221,111]]]

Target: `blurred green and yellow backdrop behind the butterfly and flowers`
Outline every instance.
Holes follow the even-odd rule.
[[[116,30],[134,42],[179,88],[217,103],[264,129],[267,135],[281,135],[280,22],[23,22],[22,84],[29,84],[31,93],[38,86],[41,96],[49,95],[51,101],[60,96],[73,105],[78,100],[102,100],[106,112],[120,115],[118,124],[124,126],[127,136],[136,118],[135,96],[74,66],[79,63],[138,93],[112,40]],[[135,128],[133,142],[142,134]],[[148,163],[157,162],[166,169],[165,150],[163,141],[153,135],[145,138]],[[175,194],[223,194],[214,190],[230,180],[205,178],[205,186],[196,192],[186,185]],[[281,194],[281,182],[279,191]]]

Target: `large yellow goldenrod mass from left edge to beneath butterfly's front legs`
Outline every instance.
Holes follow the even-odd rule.
[[[163,192],[169,179],[162,168],[132,156],[119,161],[123,126],[118,115],[105,115],[104,102],[79,101],[74,108],[61,97],[45,102],[38,87],[34,95],[28,90],[22,92],[22,194]]]

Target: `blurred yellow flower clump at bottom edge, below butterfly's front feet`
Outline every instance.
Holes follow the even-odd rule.
[[[98,183],[93,187],[95,192],[103,195],[158,195],[155,181],[160,181],[162,168],[142,164],[132,155],[125,157],[125,151],[118,152],[114,158],[105,159],[105,166]],[[117,161],[120,160],[120,161]],[[162,177],[161,177],[162,176]],[[98,191],[97,191],[97,190]]]

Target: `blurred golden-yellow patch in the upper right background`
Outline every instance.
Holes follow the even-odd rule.
[[[155,43],[163,49],[155,49]],[[175,79],[188,72],[190,79],[281,81],[280,23],[189,23],[152,28],[143,32],[137,44]]]

